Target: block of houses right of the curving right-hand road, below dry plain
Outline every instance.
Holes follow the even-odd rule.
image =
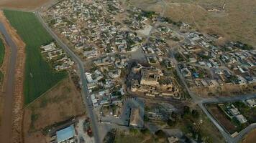
[[[180,71],[191,87],[256,82],[255,50],[247,50],[243,48],[244,44],[237,42],[216,46],[215,37],[196,31],[186,32],[185,35],[187,39],[181,42],[175,58],[182,63]]]

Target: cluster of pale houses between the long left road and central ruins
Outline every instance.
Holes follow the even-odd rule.
[[[116,87],[122,87],[118,79],[121,77],[122,70],[127,67],[128,59],[126,54],[120,54],[104,56],[93,61],[93,68],[86,72],[85,75],[88,81],[87,87],[92,94],[91,98],[94,107],[122,101],[120,96],[116,98],[111,93]],[[118,93],[123,95],[123,89],[121,88]]]

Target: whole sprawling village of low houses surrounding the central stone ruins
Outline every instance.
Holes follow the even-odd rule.
[[[256,85],[252,46],[239,41],[216,44],[221,36],[203,34],[152,11],[132,6],[126,10],[119,1],[64,0],[44,16],[83,59],[91,106],[104,124],[142,129],[145,118],[170,120],[175,108],[146,111],[143,99],[190,99],[179,72],[188,87],[202,97],[200,91],[209,88]],[[56,71],[74,64],[54,43],[41,49]],[[241,124],[247,122],[233,104],[226,108],[226,114]]]

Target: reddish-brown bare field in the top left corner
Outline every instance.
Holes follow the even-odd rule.
[[[1,8],[33,10],[54,0],[0,0]]]

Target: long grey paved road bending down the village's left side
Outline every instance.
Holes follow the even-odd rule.
[[[93,108],[91,107],[92,105],[92,101],[91,101],[91,97],[89,97],[89,92],[88,92],[88,88],[87,88],[87,80],[85,77],[85,71],[84,71],[84,67],[83,67],[83,61],[81,61],[81,59],[76,56],[76,54],[73,53],[73,51],[71,51],[68,46],[63,43],[63,41],[61,41],[58,36],[52,31],[52,29],[50,29],[49,26],[47,26],[47,24],[45,23],[45,21],[42,19],[42,16],[40,16],[40,13],[38,11],[35,11],[35,15],[37,16],[37,19],[39,19],[39,21],[41,22],[42,26],[45,27],[45,29],[47,29],[47,31],[52,35],[52,37],[55,39],[55,41],[57,41],[57,43],[67,52],[67,54],[69,56],[71,56],[71,58],[73,59],[73,61],[76,62],[76,64],[78,64],[78,69],[80,71],[81,74],[81,81],[82,81],[82,91],[83,91],[83,102],[86,104],[86,111],[88,113],[88,117],[90,117],[91,119],[91,127],[93,130],[93,136],[95,138],[95,142],[99,143],[101,142],[100,137],[99,137],[99,129],[97,126],[97,122],[98,119],[96,118],[96,114],[93,112]]]

